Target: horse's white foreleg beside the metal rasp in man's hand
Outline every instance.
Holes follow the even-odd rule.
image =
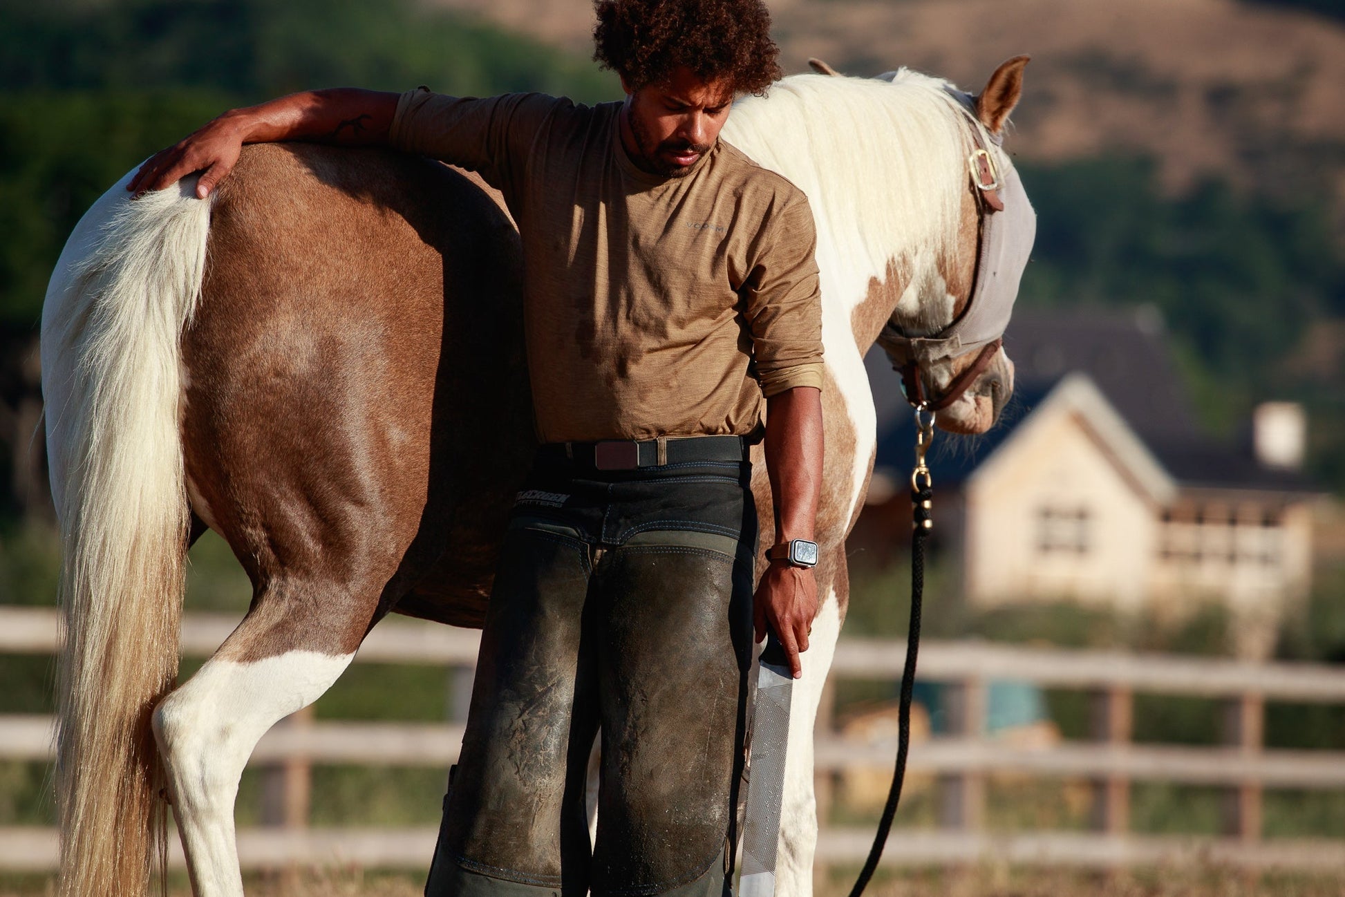
[[[784,761],[784,795],[780,802],[780,850],[775,863],[775,890],[790,897],[812,893],[812,857],[818,846],[818,811],[812,792],[812,724],[822,702],[822,689],[831,670],[841,613],[835,588],[826,586],[822,609],[812,621],[808,650],[803,654],[803,678],[794,682],[790,707],[790,752]]]

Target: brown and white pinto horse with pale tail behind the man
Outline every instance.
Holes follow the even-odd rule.
[[[795,75],[737,101],[722,132],[807,194],[823,297],[822,607],[794,689],[780,893],[811,893],[812,721],[876,451],[862,359],[884,328],[931,335],[966,309],[989,214],[968,152],[1003,130],[1025,63],[975,97],[905,69]],[[171,803],[195,893],[237,897],[233,806],[258,738],[389,612],[482,624],[535,449],[519,239],[475,176],[382,151],[249,147],[206,200],[194,178],[132,200],[129,176],[73,231],[42,319],[66,636],[58,893],[143,893]],[[971,363],[927,366],[923,389]],[[1011,393],[1003,351],[972,374],[943,429],[983,432]],[[760,446],[753,461],[771,545]],[[179,687],[183,559],[206,529],[253,600]]]

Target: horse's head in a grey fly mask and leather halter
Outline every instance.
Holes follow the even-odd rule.
[[[966,134],[956,246],[942,246],[896,280],[902,295],[878,344],[901,374],[907,399],[937,413],[954,433],[983,433],[1013,394],[1013,362],[1001,344],[1036,234],[1036,214],[1001,148],[1009,114],[1022,94],[1028,56],[1014,56],[985,90],[966,94],[943,82]],[[834,74],[824,63],[814,63]],[[886,81],[913,73],[889,73]],[[920,77],[923,78],[923,77]],[[932,79],[931,79],[932,81]]]

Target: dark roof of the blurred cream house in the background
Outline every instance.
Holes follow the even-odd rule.
[[[1142,475],[1139,481],[1157,476],[1182,488],[1319,491],[1297,471],[1266,468],[1248,451],[1201,434],[1157,312],[1018,311],[1005,334],[1005,350],[1015,368],[1013,399],[989,433],[935,438],[929,460],[939,483],[967,480],[1034,410],[1064,401],[1064,390],[1068,403],[1108,445],[1123,445],[1119,459]],[[881,350],[866,360],[878,413],[877,465],[909,469],[915,444],[909,407]],[[1153,496],[1162,500],[1169,487],[1154,488]]]

